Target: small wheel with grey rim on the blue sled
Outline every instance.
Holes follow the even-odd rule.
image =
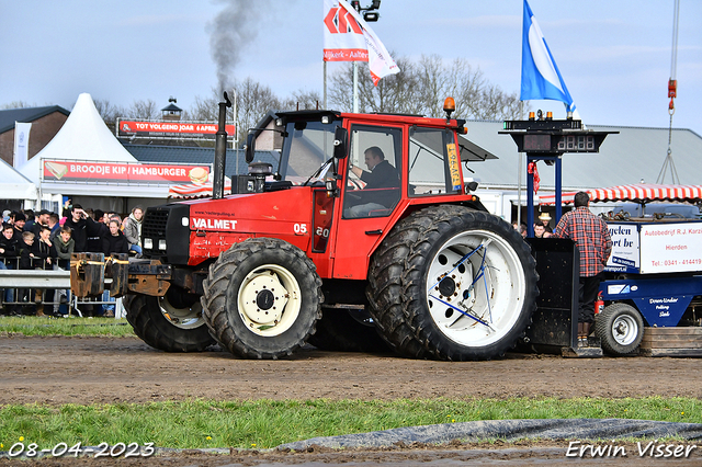
[[[636,308],[615,303],[604,307],[595,320],[595,335],[602,349],[612,355],[627,355],[638,348],[644,338],[644,320]]]

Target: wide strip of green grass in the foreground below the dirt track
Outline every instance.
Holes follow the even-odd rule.
[[[623,418],[702,423],[702,400],[432,399],[392,401],[207,401],[103,406],[0,406],[0,451],[23,437],[39,448],[56,443],[148,443],[159,447],[267,448],[330,436],[476,420]]]

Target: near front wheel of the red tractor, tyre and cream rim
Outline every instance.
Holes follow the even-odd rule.
[[[321,280],[297,247],[274,238],[236,243],[210,266],[201,301],[207,327],[235,355],[279,358],[315,332]]]

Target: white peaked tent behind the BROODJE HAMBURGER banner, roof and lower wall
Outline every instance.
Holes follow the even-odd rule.
[[[88,93],[78,96],[68,119],[54,138],[20,172],[41,186],[42,194],[84,194],[91,196],[168,196],[168,186],[134,186],[118,183],[59,182],[43,180],[43,160],[75,160],[93,162],[139,161],[110,132]]]

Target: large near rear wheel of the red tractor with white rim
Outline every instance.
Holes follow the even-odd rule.
[[[432,206],[401,220],[373,255],[371,315],[412,357],[501,356],[524,335],[539,295],[529,246],[505,220]]]

